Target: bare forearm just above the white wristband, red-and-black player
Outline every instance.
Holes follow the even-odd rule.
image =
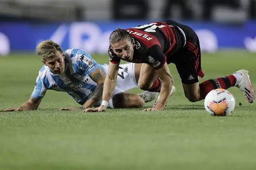
[[[117,79],[110,79],[109,77],[106,77],[104,82],[104,87],[103,87],[102,101],[109,102],[116,85],[117,85]]]

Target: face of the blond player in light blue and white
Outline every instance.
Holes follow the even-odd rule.
[[[65,70],[65,56],[62,52],[56,51],[55,55],[46,61],[42,61],[45,66],[51,69],[54,74],[62,74]]]

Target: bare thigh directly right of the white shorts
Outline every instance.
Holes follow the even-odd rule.
[[[150,88],[154,81],[158,78],[157,71],[152,66],[143,63],[140,68],[138,86],[141,89]]]

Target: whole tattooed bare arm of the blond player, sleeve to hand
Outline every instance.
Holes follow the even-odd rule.
[[[84,108],[89,108],[102,99],[103,85],[106,78],[100,68],[93,71],[91,74],[89,74],[89,76],[95,83],[97,83],[97,86],[93,93],[89,96],[89,99],[83,104]]]

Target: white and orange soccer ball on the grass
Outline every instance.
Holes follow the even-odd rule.
[[[204,108],[212,116],[228,116],[235,109],[234,96],[225,89],[217,88],[210,91],[204,100]]]

